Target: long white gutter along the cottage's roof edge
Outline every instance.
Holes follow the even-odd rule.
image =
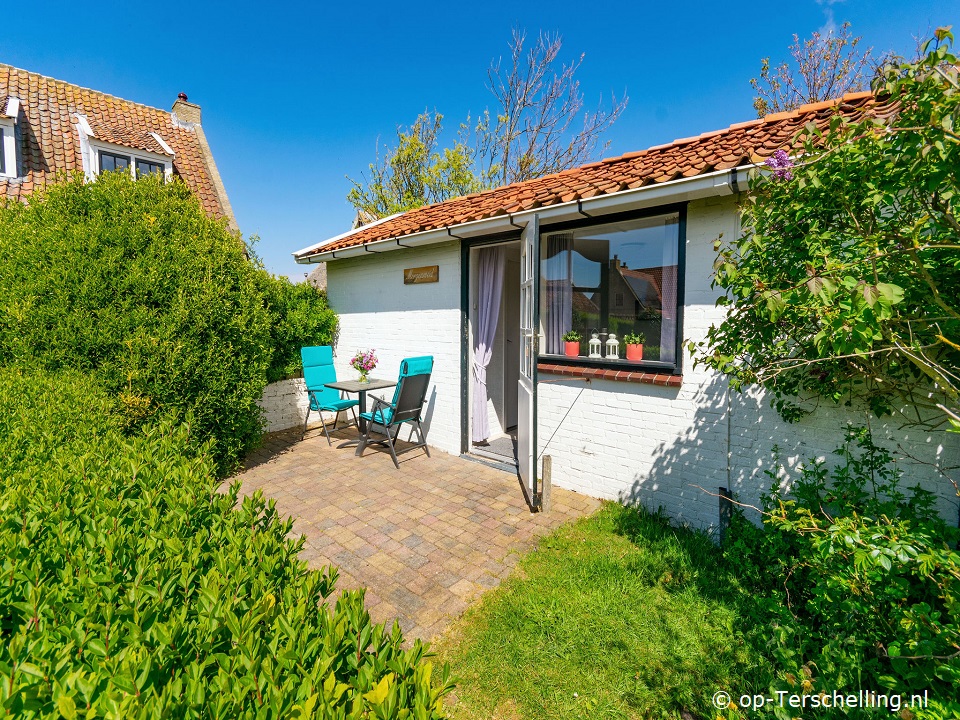
[[[401,248],[433,245],[456,239],[469,240],[474,237],[509,232],[525,227],[533,215],[538,215],[540,217],[540,223],[543,225],[576,220],[583,217],[603,217],[604,215],[612,213],[656,207],[657,205],[666,205],[672,202],[734,195],[746,190],[748,187],[749,171],[754,167],[756,166],[748,165],[730,170],[718,170],[692,178],[680,178],[679,180],[647,185],[633,190],[623,190],[607,195],[599,195],[586,200],[571,200],[566,203],[522,210],[513,214],[505,213],[496,217],[484,218],[483,220],[471,220],[466,223],[445,225],[433,230],[424,230],[409,235],[401,235],[400,237],[375,240],[373,242],[363,243],[362,245],[354,245],[339,250],[324,252],[323,245],[333,242],[334,240],[342,240],[344,237],[349,237],[349,234],[340,235],[319,245],[298,250],[293,253],[293,256],[298,263],[307,265],[310,263],[327,262],[329,260],[359,257],[361,255],[379,254]],[[455,233],[453,232],[454,228],[456,229]],[[360,229],[355,232],[360,232]]]

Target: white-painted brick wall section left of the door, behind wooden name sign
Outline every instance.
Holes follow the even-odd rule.
[[[440,281],[404,285],[403,269],[440,266]],[[355,379],[350,358],[373,348],[371,376],[395,380],[404,358],[433,355],[424,426],[431,447],[460,452],[460,246],[394,250],[327,263],[327,297],[340,315],[337,377]],[[392,397],[393,388],[374,392]],[[404,437],[401,435],[401,437]]]

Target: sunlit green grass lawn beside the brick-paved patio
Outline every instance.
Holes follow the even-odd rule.
[[[715,717],[762,660],[744,591],[702,534],[607,503],[544,538],[437,644],[454,718]]]

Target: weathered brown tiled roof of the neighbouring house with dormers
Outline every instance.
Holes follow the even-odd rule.
[[[236,227],[233,209],[200,125],[200,108],[181,95],[172,111],[123,100],[0,64],[0,99],[18,98],[18,177],[0,178],[0,197],[24,199],[59,175],[82,171],[80,130],[95,140],[172,156],[173,172],[204,209]],[[170,152],[172,151],[172,153]]]

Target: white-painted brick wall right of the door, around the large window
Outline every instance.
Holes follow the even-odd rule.
[[[710,288],[713,241],[734,237],[736,211],[731,199],[691,203],[687,216],[687,267],[684,335],[702,340],[720,321],[719,292]],[[758,391],[728,394],[726,380],[683,358],[680,388],[543,376],[538,387],[538,442],[553,458],[554,483],[597,497],[630,499],[662,507],[691,525],[710,528],[718,520],[716,493],[731,488],[744,502],[756,503],[769,481],[773,446],[787,464],[784,484],[797,463],[809,457],[829,462],[847,421],[863,424],[865,413],[822,407],[797,424],[781,420]],[[728,413],[728,403],[730,411]],[[566,416],[566,417],[564,417]],[[562,422],[561,422],[562,421]],[[960,464],[960,437],[900,430],[872,420],[875,436],[894,450],[905,485],[919,482],[939,495],[939,509],[956,522],[957,498],[949,482],[928,463]],[[730,467],[727,467],[729,436]],[[544,447],[544,444],[547,444]],[[898,447],[899,446],[899,447]]]

